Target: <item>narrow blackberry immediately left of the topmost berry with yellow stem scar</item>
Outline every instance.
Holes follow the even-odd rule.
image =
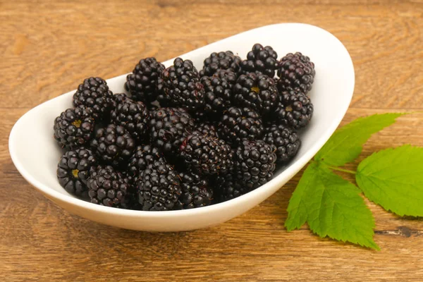
[[[201,78],[204,85],[205,113],[218,116],[231,106],[233,85],[238,78],[233,71],[217,71],[212,76]]]

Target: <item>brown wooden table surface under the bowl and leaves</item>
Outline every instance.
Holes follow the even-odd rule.
[[[320,239],[307,226],[286,232],[299,176],[243,216],[181,233],[87,221],[27,184],[7,142],[33,106],[85,77],[127,73],[142,57],[164,61],[271,23],[319,25],[345,44],[356,86],[343,123],[423,110],[422,0],[147,2],[0,1],[0,281],[423,281],[422,219],[400,219],[367,202],[380,252]],[[362,157],[423,146],[422,128],[423,114],[400,118],[367,142]]]

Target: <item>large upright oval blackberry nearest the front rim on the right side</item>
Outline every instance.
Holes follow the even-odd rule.
[[[262,140],[245,140],[235,153],[235,168],[241,185],[253,190],[267,183],[273,177],[275,161],[276,154],[270,145]]]

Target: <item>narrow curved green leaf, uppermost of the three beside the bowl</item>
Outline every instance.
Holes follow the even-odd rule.
[[[343,166],[356,159],[362,152],[362,145],[372,134],[386,128],[403,114],[375,114],[364,118],[357,118],[336,130],[328,142],[314,157],[316,161],[323,161],[329,166]]]

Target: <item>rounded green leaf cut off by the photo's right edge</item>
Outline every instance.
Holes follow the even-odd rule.
[[[355,175],[369,200],[400,216],[423,216],[423,148],[405,145],[364,159]]]

